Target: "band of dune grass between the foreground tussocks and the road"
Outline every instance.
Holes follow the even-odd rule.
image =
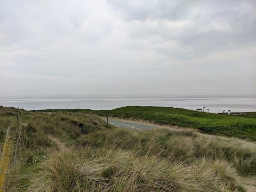
[[[112,147],[172,157],[177,161],[193,162],[194,159],[220,159],[234,165],[242,175],[256,173],[256,145],[237,139],[203,137],[193,131],[171,132],[154,129],[135,132],[125,129],[95,131],[78,138],[78,146]],[[146,152],[147,151],[147,152]],[[149,152],[148,152],[149,151]]]

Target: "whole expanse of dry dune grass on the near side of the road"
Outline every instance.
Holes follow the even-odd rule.
[[[17,124],[16,111],[0,107],[2,132]],[[23,145],[8,191],[245,191],[240,178],[256,174],[254,143],[118,129],[92,114],[21,111]]]

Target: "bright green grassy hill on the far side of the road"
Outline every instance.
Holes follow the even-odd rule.
[[[160,125],[178,125],[201,130],[203,133],[222,134],[238,138],[256,140],[256,113],[238,116],[202,113],[173,107],[122,107],[113,110],[62,109],[99,116],[125,119],[141,119]],[[245,118],[246,117],[246,118]]]

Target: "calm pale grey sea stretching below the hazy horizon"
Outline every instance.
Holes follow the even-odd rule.
[[[124,106],[163,106],[196,110],[210,108],[210,113],[256,111],[256,95],[164,95],[164,96],[47,96],[0,97],[0,106],[36,109],[115,109]]]

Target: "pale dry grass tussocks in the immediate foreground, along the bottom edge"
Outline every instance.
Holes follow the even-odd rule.
[[[33,181],[30,191],[243,191],[225,161],[189,165],[114,148],[53,153]]]

